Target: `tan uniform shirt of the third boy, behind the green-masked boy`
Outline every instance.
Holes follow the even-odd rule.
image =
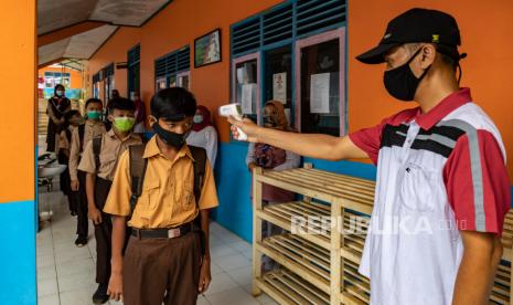
[[[84,148],[87,143],[95,137],[99,137],[107,133],[105,124],[101,120],[86,120],[84,128]],[[72,143],[70,148],[70,177],[72,180],[78,180],[78,161],[82,156],[81,137],[78,127],[73,130]]]

